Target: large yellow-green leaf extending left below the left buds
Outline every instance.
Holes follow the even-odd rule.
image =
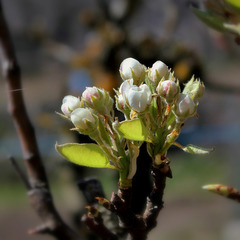
[[[67,143],[58,145],[56,150],[70,162],[95,168],[114,168],[110,165],[109,160],[103,150],[94,143]]]

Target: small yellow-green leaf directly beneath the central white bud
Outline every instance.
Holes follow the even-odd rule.
[[[120,122],[116,130],[126,139],[151,142],[148,138],[147,128],[139,118]]]

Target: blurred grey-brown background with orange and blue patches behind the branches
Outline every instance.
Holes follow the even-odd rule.
[[[201,189],[209,183],[240,189],[240,46],[233,37],[207,28],[185,0],[2,2],[22,69],[22,91],[64,219],[72,224],[84,211],[77,180],[98,177],[109,198],[117,178],[111,170],[73,168],[56,153],[56,141],[79,140],[56,114],[62,98],[81,95],[86,86],[117,88],[126,57],[147,67],[161,60],[182,83],[194,74],[206,85],[199,119],[186,122],[178,142],[216,150],[200,157],[170,151],[173,179],[167,181],[165,208],[149,239],[239,239],[239,204]],[[3,80],[0,119],[0,239],[50,239],[27,234],[40,222],[8,161],[14,156],[24,167]]]

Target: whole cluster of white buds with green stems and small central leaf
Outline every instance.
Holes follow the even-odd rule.
[[[64,97],[61,110],[74,130],[97,142],[111,166],[120,171],[120,184],[125,186],[136,172],[143,141],[153,167],[161,165],[171,145],[180,146],[175,141],[183,122],[196,114],[204,85],[192,77],[181,91],[174,73],[162,61],[147,68],[127,58],[119,71],[123,82],[115,90],[115,107],[124,114],[123,122],[114,115],[113,98],[97,87],[86,88],[80,98]]]

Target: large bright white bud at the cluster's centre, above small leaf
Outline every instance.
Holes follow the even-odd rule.
[[[126,95],[128,104],[136,112],[143,112],[152,100],[152,94],[146,84],[132,86]]]

